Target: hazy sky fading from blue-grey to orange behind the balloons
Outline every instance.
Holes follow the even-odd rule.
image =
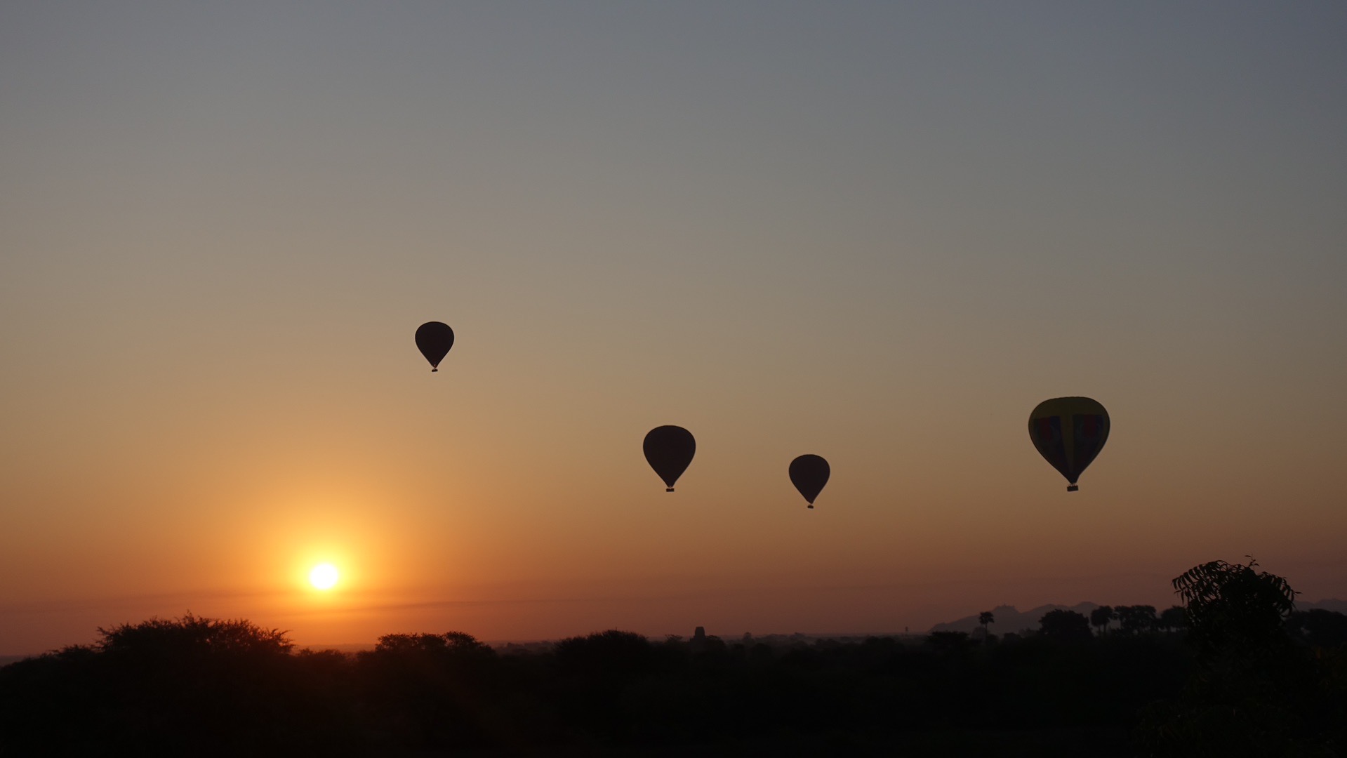
[[[917,630],[1245,555],[1344,598],[1343,39],[1342,3],[5,3],[0,653],[187,610]],[[1071,494],[1025,431],[1063,394],[1113,416]]]

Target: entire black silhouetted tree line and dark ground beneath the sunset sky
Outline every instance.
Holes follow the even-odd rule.
[[[511,653],[461,631],[295,650],[248,621],[150,619],[0,668],[0,755],[1344,754],[1347,617],[1293,613],[1253,563],[1176,590],[1181,630],[1052,611],[1001,637],[607,630]]]

